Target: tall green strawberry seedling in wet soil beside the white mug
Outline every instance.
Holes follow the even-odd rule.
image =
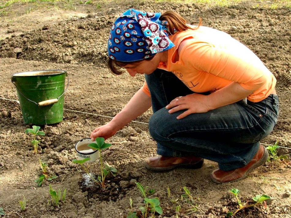
[[[95,139],[96,143],[91,143],[88,145],[88,147],[94,148],[98,150],[99,152],[99,161],[100,161],[100,168],[101,168],[101,177],[98,176],[98,180],[101,183],[101,187],[105,188],[105,177],[108,175],[109,172],[112,173],[113,176],[116,175],[117,169],[114,167],[109,166],[108,164],[104,164],[105,168],[103,168],[103,163],[102,163],[102,157],[101,157],[101,150],[104,150],[106,148],[109,148],[111,144],[109,143],[104,143],[104,138],[102,137],[97,137]]]

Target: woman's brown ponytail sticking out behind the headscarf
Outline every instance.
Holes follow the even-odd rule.
[[[166,11],[162,13],[160,20],[166,20],[168,22],[168,31],[170,34],[175,34],[176,31],[181,32],[187,29],[196,30],[201,26],[202,19],[199,18],[199,24],[195,28],[191,28],[186,24],[186,20],[178,13],[174,11]],[[175,31],[176,30],[176,31]]]

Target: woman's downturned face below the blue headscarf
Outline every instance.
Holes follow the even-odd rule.
[[[154,72],[160,63],[160,55],[156,54],[152,59],[150,60],[142,60],[135,64],[127,64],[123,66],[124,69],[127,70],[130,76],[135,76],[138,74],[151,74]]]

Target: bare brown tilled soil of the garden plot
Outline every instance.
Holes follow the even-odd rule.
[[[77,157],[74,144],[89,137],[95,127],[107,123],[107,116],[115,116],[143,84],[143,76],[114,76],[106,67],[109,28],[120,13],[131,7],[152,12],[175,10],[191,24],[202,17],[203,25],[226,31],[253,50],[278,80],[280,117],[263,143],[274,144],[278,140],[279,146],[291,148],[290,8],[269,9],[248,1],[223,8],[192,3],[111,1],[98,7],[76,4],[72,11],[43,6],[27,13],[32,6],[15,4],[0,17],[0,207],[6,212],[4,217],[123,217],[131,211],[130,198],[132,211],[143,205],[135,182],[155,189],[149,197],[160,199],[163,214],[157,217],[174,217],[177,205],[182,207],[179,217],[225,217],[227,211],[237,207],[228,193],[231,188],[241,190],[243,202],[257,194],[274,199],[266,208],[244,210],[236,217],[291,217],[289,161],[266,163],[247,179],[221,185],[211,182],[210,173],[217,168],[211,161],[198,170],[146,170],[144,159],[156,155],[155,142],[144,124],[151,110],[135,120],[142,123],[131,122],[107,140],[113,146],[103,152],[104,161],[119,173],[116,178],[108,176],[106,190],[84,183],[82,168],[72,163]],[[20,105],[3,98],[17,100],[12,74],[47,69],[66,70],[70,86],[65,94],[63,121],[42,127],[46,134],[40,137],[43,153],[33,154],[32,138],[25,134],[31,126],[24,124]],[[278,151],[290,154],[289,149]],[[41,187],[34,182],[41,175],[39,158],[47,162],[49,175],[58,176],[49,182],[52,187],[67,190],[60,208],[48,205],[48,181]],[[91,164],[91,169],[100,175],[98,163]],[[181,200],[185,186],[198,208],[189,215],[191,206]],[[23,195],[26,210],[21,212],[19,201]],[[171,200],[176,199],[177,204],[173,204]]]

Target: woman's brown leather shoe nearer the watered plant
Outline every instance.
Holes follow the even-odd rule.
[[[145,160],[145,167],[152,171],[170,171],[176,167],[198,169],[203,165],[201,157],[149,157]]]

